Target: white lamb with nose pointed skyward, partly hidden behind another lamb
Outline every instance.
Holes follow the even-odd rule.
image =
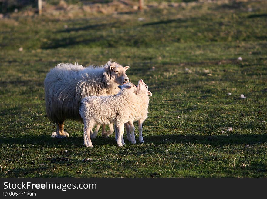
[[[148,104],[149,104],[149,97],[148,95],[152,96],[152,93],[148,90],[147,84],[144,83],[142,79],[138,81],[137,85],[137,98],[138,98],[138,109],[136,112],[133,112],[133,121],[138,121],[138,131],[139,131],[139,142],[143,143],[143,122],[147,119],[148,114]],[[136,143],[135,135],[134,135],[134,124],[133,121],[129,121],[125,124],[127,138],[132,144]],[[115,139],[117,139],[117,129],[115,127]]]

